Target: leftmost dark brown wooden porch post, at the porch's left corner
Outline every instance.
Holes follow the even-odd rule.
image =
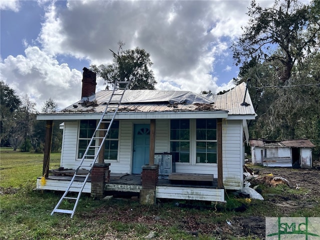
[[[52,130],[53,130],[53,121],[46,120],[44,153],[43,153],[43,167],[42,167],[42,176],[44,176],[44,177],[48,177],[48,175],[49,175],[50,151],[51,151],[51,143],[52,143]]]

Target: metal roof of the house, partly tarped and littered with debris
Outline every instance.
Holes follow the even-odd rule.
[[[228,115],[251,115],[250,119],[254,119],[255,112],[248,92],[245,97],[247,106],[241,105],[244,93],[244,82],[224,94],[212,96],[199,95],[191,91],[126,90],[118,113],[223,111]],[[111,94],[112,90],[101,90],[95,93],[93,101],[80,100],[59,112],[40,113],[40,115],[100,113],[104,111]],[[114,111],[116,106],[117,104],[109,104],[107,111]]]

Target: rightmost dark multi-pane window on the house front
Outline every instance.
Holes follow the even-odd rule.
[[[196,119],[196,162],[216,163],[216,119]]]

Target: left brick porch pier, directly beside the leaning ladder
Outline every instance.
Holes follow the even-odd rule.
[[[101,199],[104,195],[105,182],[110,178],[110,163],[94,163],[91,170],[91,196]]]

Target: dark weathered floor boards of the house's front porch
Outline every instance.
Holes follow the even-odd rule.
[[[69,175],[49,175],[47,179],[51,180],[71,180],[72,176]],[[76,177],[75,181],[83,180],[82,177]],[[91,177],[88,178],[88,182],[91,182]],[[119,174],[110,175],[110,182],[106,184],[124,184],[124,185],[142,185],[140,174],[125,174],[119,176]],[[176,186],[176,187],[194,187],[194,188],[217,188],[217,179],[213,178],[212,182],[208,181],[185,181],[159,178],[157,186]]]

